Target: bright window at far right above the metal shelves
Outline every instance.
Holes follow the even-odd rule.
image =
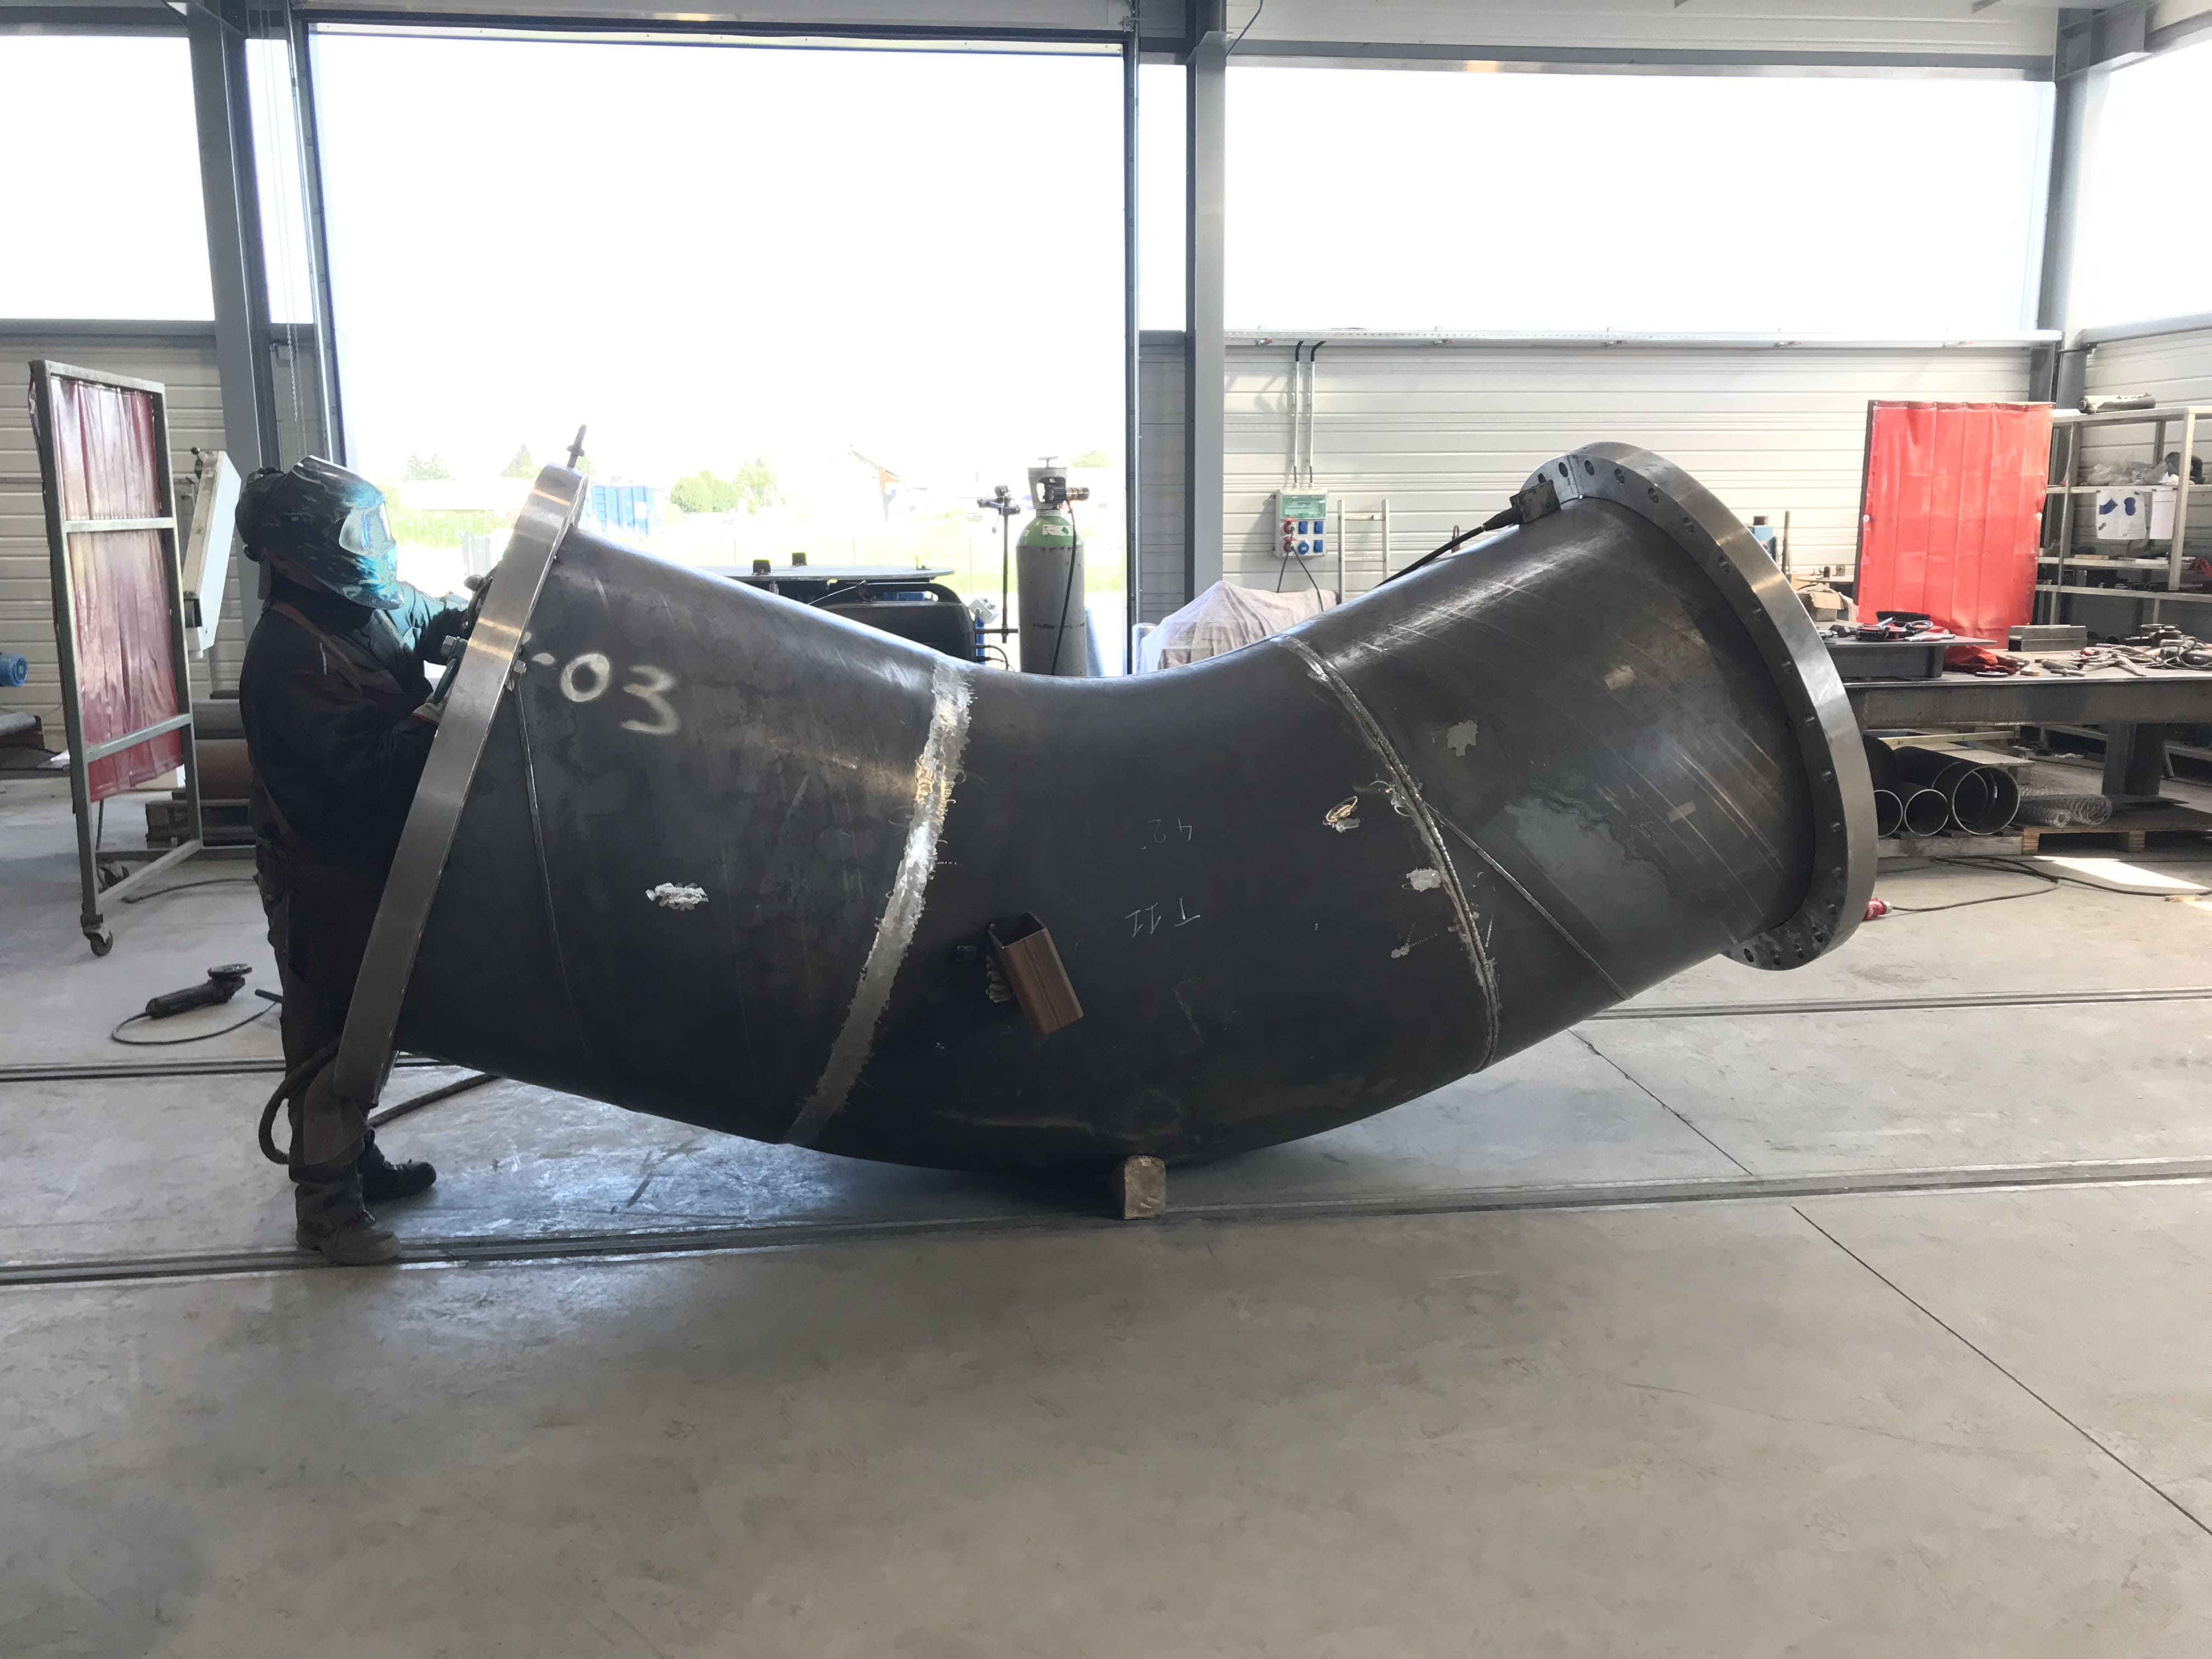
[[[2075,215],[2070,327],[2212,312],[2201,197],[2212,42],[2099,75]]]

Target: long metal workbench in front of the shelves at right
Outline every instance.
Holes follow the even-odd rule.
[[[2013,653],[2068,661],[2070,650]],[[1927,726],[2099,726],[2104,792],[2115,801],[2154,801],[2166,779],[2166,728],[2212,726],[2212,672],[2146,668],[2130,675],[1938,675],[1936,679],[1849,679],[1843,686],[1863,732]]]

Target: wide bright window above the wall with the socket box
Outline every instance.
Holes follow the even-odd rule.
[[[2051,88],[1230,71],[1228,323],[2033,327]]]

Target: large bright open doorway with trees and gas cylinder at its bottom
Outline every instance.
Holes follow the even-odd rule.
[[[314,86],[349,456],[411,580],[582,422],[655,553],[993,597],[975,498],[1055,456],[1121,586],[1117,55],[327,31]]]

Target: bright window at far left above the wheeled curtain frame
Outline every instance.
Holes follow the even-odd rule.
[[[0,35],[0,316],[215,316],[184,40]]]

